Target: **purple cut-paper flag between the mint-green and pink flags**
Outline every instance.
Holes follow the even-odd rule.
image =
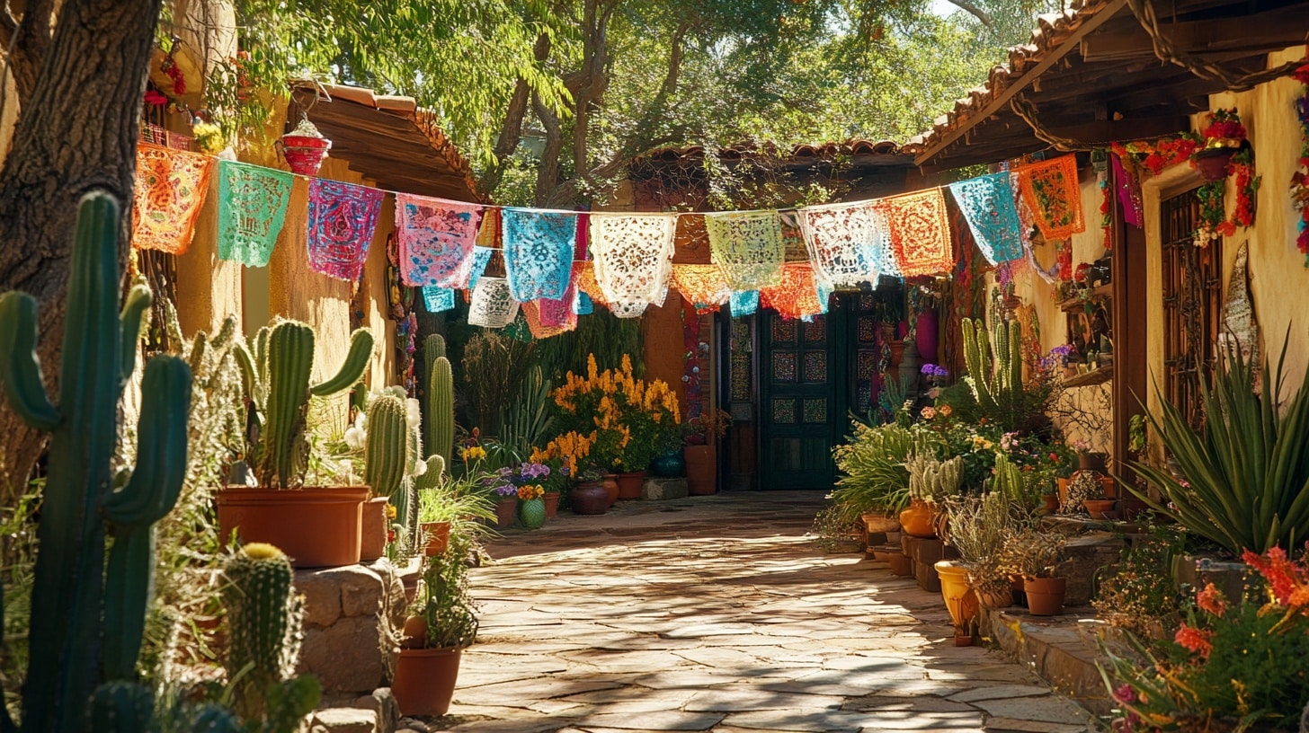
[[[325,178],[309,181],[305,246],[314,272],[355,281],[364,272],[384,192]]]

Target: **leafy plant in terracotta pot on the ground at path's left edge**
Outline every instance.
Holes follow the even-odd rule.
[[[437,716],[450,709],[459,658],[478,635],[465,562],[470,548],[470,538],[454,533],[445,552],[423,560],[423,579],[410,605],[391,681],[391,694],[404,715]]]

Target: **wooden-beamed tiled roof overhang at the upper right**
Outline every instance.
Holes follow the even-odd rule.
[[[1306,0],[1141,1],[1155,4],[1160,33],[1177,48],[1237,73],[1262,71],[1270,51],[1309,34]],[[1084,0],[1041,18],[1009,65],[912,140],[920,145],[914,162],[937,170],[990,164],[1049,148],[1052,137],[1088,148],[1157,137],[1183,130],[1186,115],[1208,109],[1208,96],[1224,88],[1161,62],[1128,0]]]

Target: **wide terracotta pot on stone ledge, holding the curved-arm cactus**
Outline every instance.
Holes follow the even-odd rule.
[[[267,542],[297,568],[359,563],[367,486],[296,491],[228,487],[219,492],[219,537]]]

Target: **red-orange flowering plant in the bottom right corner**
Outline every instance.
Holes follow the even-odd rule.
[[[1102,677],[1119,704],[1118,730],[1296,728],[1309,704],[1309,564],[1280,547],[1242,560],[1266,596],[1236,603],[1208,584],[1165,654],[1140,643],[1147,664],[1107,654]]]

